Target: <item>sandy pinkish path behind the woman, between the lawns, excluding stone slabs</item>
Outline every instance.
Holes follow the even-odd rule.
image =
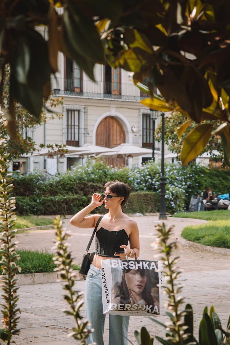
[[[150,244],[156,237],[154,227],[159,224],[158,215],[153,216],[134,216],[140,231],[140,258],[152,259],[156,251],[152,249]],[[63,220],[64,226],[71,233],[69,239],[69,248],[74,257],[74,262],[79,264],[82,259],[83,252],[87,246],[92,229],[79,229],[69,225],[69,217]],[[206,270],[229,269],[229,254],[213,253],[209,250],[200,250],[184,245],[180,242],[180,233],[182,229],[188,225],[206,223],[206,220],[189,219],[189,218],[172,218],[168,217],[165,221],[167,227],[174,225],[173,240],[178,239],[178,248],[175,254],[180,256],[179,266],[184,272],[196,272]],[[53,252],[55,230],[33,230],[26,231],[17,235],[19,241],[19,249],[31,249],[39,251]],[[93,251],[93,244],[92,244]]]

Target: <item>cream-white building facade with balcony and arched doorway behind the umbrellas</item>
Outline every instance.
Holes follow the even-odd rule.
[[[40,29],[41,30],[41,29]],[[46,30],[41,32],[45,37]],[[63,105],[54,112],[60,112],[63,117],[54,117],[46,124],[34,128],[30,132],[37,144],[66,144],[82,146],[84,144],[115,147],[128,143],[138,147],[152,149],[153,122],[150,110],[139,102],[148,97],[134,84],[129,73],[120,68],[113,69],[109,65],[94,67],[93,82],[77,63],[59,53],[59,72],[51,77],[52,97],[63,97]],[[156,127],[160,116],[156,121]],[[155,142],[155,150],[160,144]],[[166,153],[168,151],[166,150]],[[141,164],[152,155],[133,157],[130,164]],[[84,158],[86,159],[86,158]],[[44,170],[51,174],[66,171],[74,164],[82,163],[78,155],[48,159],[47,156],[20,157],[14,162],[14,170]],[[113,166],[125,162],[117,158],[107,158],[107,163]]]

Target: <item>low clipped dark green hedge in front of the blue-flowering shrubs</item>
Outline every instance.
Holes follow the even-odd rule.
[[[90,203],[83,195],[74,196],[16,196],[16,210],[19,215],[73,215]],[[159,195],[156,192],[131,193],[127,204],[123,208],[125,213],[146,213],[159,211]],[[93,213],[104,214],[107,210],[100,206]]]

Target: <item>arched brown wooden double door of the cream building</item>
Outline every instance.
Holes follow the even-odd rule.
[[[115,117],[105,117],[96,131],[96,145],[113,148],[123,142],[126,142],[126,134],[121,123]],[[124,158],[108,157],[106,162],[108,165],[122,166],[125,160]]]

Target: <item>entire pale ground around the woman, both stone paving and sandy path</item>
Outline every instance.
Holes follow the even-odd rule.
[[[155,236],[154,225],[158,224],[158,216],[134,217],[140,229],[141,253],[140,258],[151,259],[154,253],[151,242]],[[68,226],[68,219],[65,220]],[[223,328],[226,328],[230,314],[230,269],[229,253],[213,253],[204,248],[191,247],[188,243],[180,240],[180,232],[184,226],[204,223],[205,221],[185,218],[168,218],[167,226],[175,225],[174,239],[178,239],[177,253],[180,256],[179,266],[183,269],[180,282],[184,285],[182,295],[185,304],[190,303],[194,312],[194,333],[198,335],[198,326],[204,307],[214,305]],[[71,250],[80,262],[83,250],[86,247],[92,229],[82,230],[68,226],[73,234]],[[46,231],[46,232],[44,232]],[[28,249],[49,249],[53,246],[53,230],[32,231],[18,236],[20,246]],[[50,243],[48,241],[50,239]],[[85,281],[76,282],[76,289],[84,290]],[[19,307],[21,317],[18,327],[20,335],[14,338],[17,345],[38,343],[43,345],[64,345],[69,343],[80,344],[72,338],[67,338],[71,327],[74,326],[72,317],[63,314],[66,302],[62,298],[63,290],[61,283],[23,285],[19,288]],[[162,306],[165,296],[162,296]],[[161,316],[156,316],[161,321],[167,321],[167,316],[162,308]],[[134,331],[147,327],[152,336],[164,336],[162,327],[154,324],[148,317],[131,317],[128,338],[133,344],[137,344]],[[104,345],[108,345],[108,321],[105,326]],[[159,344],[156,340],[154,344]],[[101,345],[101,344],[98,344]]]

